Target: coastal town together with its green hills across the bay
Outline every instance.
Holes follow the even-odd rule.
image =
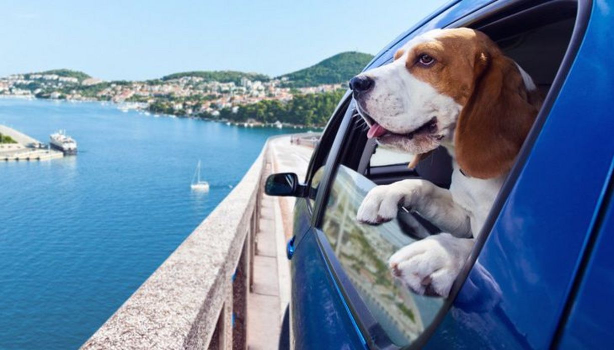
[[[343,52],[278,77],[239,71],[178,72],[150,80],[106,81],[54,69],[0,77],[0,97],[104,101],[122,111],[241,125],[324,126],[347,82],[373,58]]]

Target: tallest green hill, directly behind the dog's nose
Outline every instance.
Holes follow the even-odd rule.
[[[284,74],[287,87],[311,87],[321,84],[343,84],[362,71],[373,55],[361,52],[342,52],[309,68]]]

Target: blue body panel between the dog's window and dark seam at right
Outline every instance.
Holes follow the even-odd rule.
[[[554,14],[561,4],[544,5],[553,6]],[[494,205],[483,247],[472,256],[476,265],[465,266],[468,281],[459,286],[430,348],[548,348],[561,336],[614,150],[608,136],[613,122],[603,117],[612,108],[605,97],[612,87],[612,50],[596,39],[605,22],[593,20],[604,12],[591,2],[575,4],[569,47]],[[588,39],[593,25],[600,29]],[[588,83],[588,77],[595,79]],[[578,130],[578,115],[600,127]],[[476,294],[485,281],[494,282],[500,294]]]

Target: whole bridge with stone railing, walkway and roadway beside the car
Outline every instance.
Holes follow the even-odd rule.
[[[271,173],[304,178],[313,135],[269,139],[235,189],[82,349],[277,348],[294,200],[266,196],[263,184]]]

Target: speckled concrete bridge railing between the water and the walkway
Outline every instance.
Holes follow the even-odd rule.
[[[247,294],[267,148],[82,349],[247,348]]]

